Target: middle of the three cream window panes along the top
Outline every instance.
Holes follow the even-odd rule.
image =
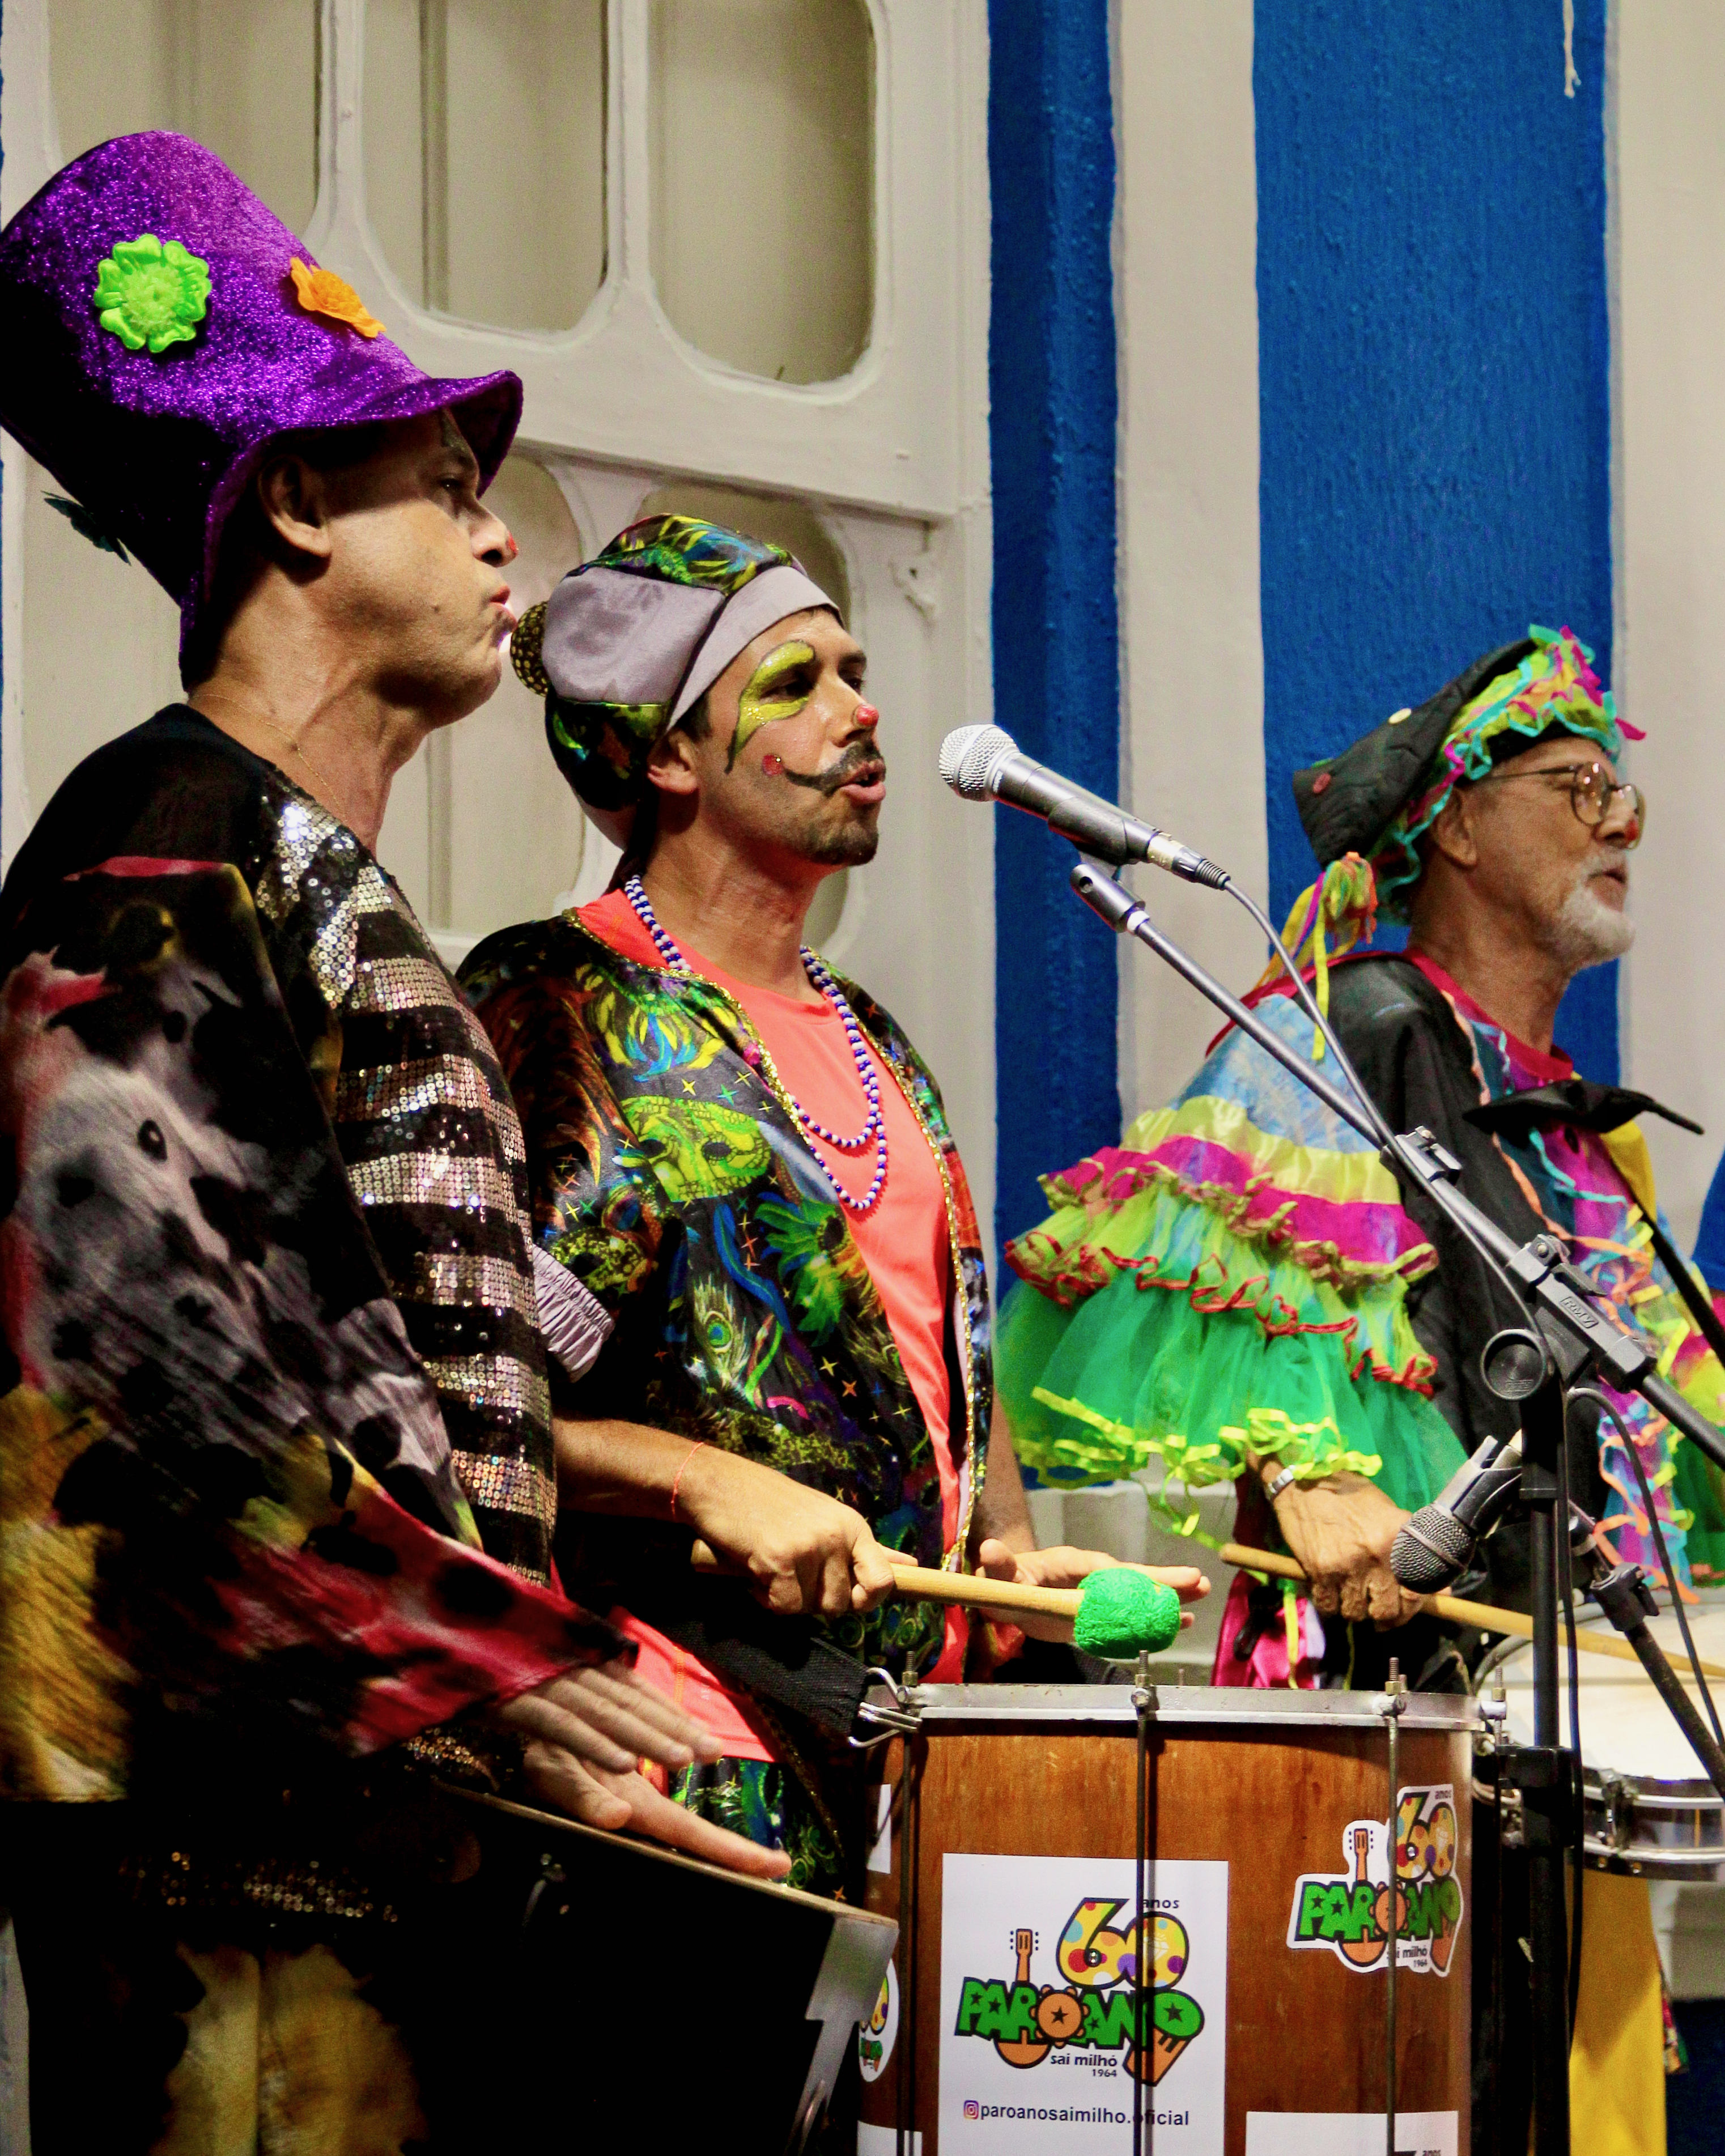
[[[604,0],[367,0],[371,229],[414,300],[569,330],[606,270]]]

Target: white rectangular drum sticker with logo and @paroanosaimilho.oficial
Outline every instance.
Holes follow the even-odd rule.
[[[1130,1856],[942,1861],[942,2152],[1119,2156],[1136,2076],[1164,2156],[1223,2156],[1227,1865],[1154,1863],[1145,1893],[1134,2033]]]

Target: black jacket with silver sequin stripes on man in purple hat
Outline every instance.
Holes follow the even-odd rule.
[[[367,1755],[612,1651],[537,1585],[520,1125],[360,841],[170,707],[39,819],[0,975],[0,1794]]]

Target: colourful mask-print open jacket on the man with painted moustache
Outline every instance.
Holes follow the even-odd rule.
[[[841,1207],[742,1007],[692,975],[636,964],[574,914],[507,929],[461,968],[528,1141],[541,1246],[615,1313],[567,1408],[688,1432],[781,1468],[869,1520],[923,1565],[964,1550],[992,1404],[981,1235],[940,1091],[893,1018],[841,983],[893,1069],[947,1192],[947,1365],[960,1524],[942,1544],[940,1477],[886,1311]],[[608,1520],[567,1552],[599,1602],[653,1615],[688,1576],[688,1531]],[[886,1602],[834,1626],[895,1662],[936,1645],[932,1604]]]

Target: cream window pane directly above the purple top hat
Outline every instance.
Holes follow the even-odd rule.
[[[302,233],[317,205],[317,0],[50,0],[63,153],[170,127]]]

